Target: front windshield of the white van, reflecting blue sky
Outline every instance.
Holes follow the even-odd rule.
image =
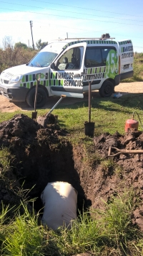
[[[39,52],[29,63],[30,67],[48,67],[54,58],[56,58],[57,53],[55,52]]]

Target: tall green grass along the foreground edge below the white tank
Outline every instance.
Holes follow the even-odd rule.
[[[26,204],[22,204],[24,214],[16,212],[15,218],[9,221],[4,232],[5,209],[1,213],[0,236],[1,255],[44,256],[74,255],[90,252],[94,255],[142,255],[142,232],[132,224],[134,211],[134,193],[132,189],[120,196],[112,196],[106,209],[79,214],[71,229],[59,228],[56,232],[39,224],[39,214],[29,213]],[[112,254],[116,252],[116,254]],[[133,253],[133,254],[132,254]]]

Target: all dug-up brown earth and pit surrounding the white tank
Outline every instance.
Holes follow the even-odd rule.
[[[143,133],[129,130],[92,138],[92,146],[71,145],[66,129],[61,129],[50,114],[46,128],[24,114],[17,114],[0,124],[0,145],[9,148],[9,166],[0,165],[0,201],[19,204],[22,197],[36,198],[35,211],[42,208],[40,195],[47,183],[66,181],[78,191],[78,207],[104,209],[104,201],[124,188],[133,188],[134,200],[143,198],[143,154],[119,154],[109,157],[109,147],[142,150]],[[116,150],[112,150],[115,153]],[[104,159],[104,162],[100,161]],[[114,172],[113,165],[117,165]],[[102,164],[101,164],[102,163]],[[104,164],[103,164],[104,163]],[[4,176],[4,177],[3,177]],[[24,191],[19,187],[22,186]],[[30,191],[28,191],[30,190]],[[0,204],[1,206],[1,204]],[[1,206],[2,207],[2,206]],[[132,221],[143,230],[143,205],[134,210]]]

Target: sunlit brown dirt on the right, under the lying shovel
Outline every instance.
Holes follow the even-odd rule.
[[[142,132],[129,131],[124,136],[116,132],[114,135],[105,133],[99,137],[94,137],[95,152],[103,161],[97,165],[96,171],[92,172],[89,180],[92,189],[89,194],[94,208],[104,208],[104,201],[109,201],[112,195],[122,193],[124,188],[132,188],[136,198],[134,201],[143,198],[143,153],[142,154],[123,154],[122,150],[142,150]],[[117,147],[119,155],[108,157],[109,147]],[[112,149],[109,155],[114,155],[118,151]],[[111,163],[109,163],[109,159]],[[94,180],[94,181],[93,181]],[[139,224],[143,230],[143,206],[134,211],[134,222]]]

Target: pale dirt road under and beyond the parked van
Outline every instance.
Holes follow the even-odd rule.
[[[143,93],[143,82],[134,82],[134,83],[120,83],[119,86],[115,87],[116,92],[122,93],[122,95],[126,93]],[[99,97],[99,92],[94,91],[92,92],[92,97],[93,98],[98,98]],[[56,104],[56,102],[59,100],[59,97],[49,97],[47,104],[44,106],[44,109],[51,109],[51,107]],[[74,104],[77,102],[82,102],[88,100],[88,93],[84,94],[84,99],[77,99],[77,98],[68,98],[68,99],[63,99],[60,102],[60,105],[69,105],[69,104]],[[11,102],[8,99],[6,99],[4,96],[0,95],[0,112],[14,112],[14,111],[31,111],[30,106],[28,106],[25,102]]]

